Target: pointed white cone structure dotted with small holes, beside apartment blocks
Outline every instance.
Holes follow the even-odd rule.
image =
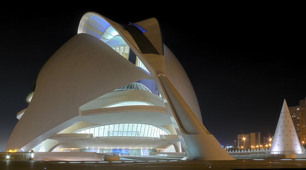
[[[275,129],[270,151],[299,151],[302,148],[297,137],[289,109],[284,99],[281,114]]]

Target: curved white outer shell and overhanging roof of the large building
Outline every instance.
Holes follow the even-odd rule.
[[[113,113],[112,108],[85,113],[80,107],[114,89],[148,77],[104,43],[117,34],[146,66],[165,106],[147,106],[149,109],[146,106],[136,109],[122,106],[118,112],[154,114],[156,119],[169,114],[188,156],[201,160],[234,160],[202,124],[199,104],[189,78],[163,44],[157,20],[151,18],[123,26],[97,13],[84,14],[78,34],[55,52],[41,69],[35,95],[14,128],[6,151],[29,151],[86,117],[93,120],[96,117],[89,117]],[[121,119],[127,121],[124,116]],[[28,126],[29,122],[31,126]]]

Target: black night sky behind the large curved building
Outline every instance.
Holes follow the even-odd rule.
[[[120,24],[159,21],[164,44],[190,78],[204,126],[222,145],[233,145],[238,134],[274,132],[283,100],[293,107],[306,97],[301,5],[151,5],[122,11],[117,5],[2,11],[0,151],[16,114],[28,106],[25,98],[40,69],[76,35],[90,11]]]

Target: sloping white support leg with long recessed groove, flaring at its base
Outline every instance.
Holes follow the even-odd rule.
[[[164,74],[155,76],[162,99],[181,144],[193,160],[235,160],[207,131]]]

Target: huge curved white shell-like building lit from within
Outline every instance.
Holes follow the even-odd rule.
[[[204,127],[155,18],[124,25],[89,12],[77,33],[39,72],[6,151],[172,148],[192,159],[234,159]]]

